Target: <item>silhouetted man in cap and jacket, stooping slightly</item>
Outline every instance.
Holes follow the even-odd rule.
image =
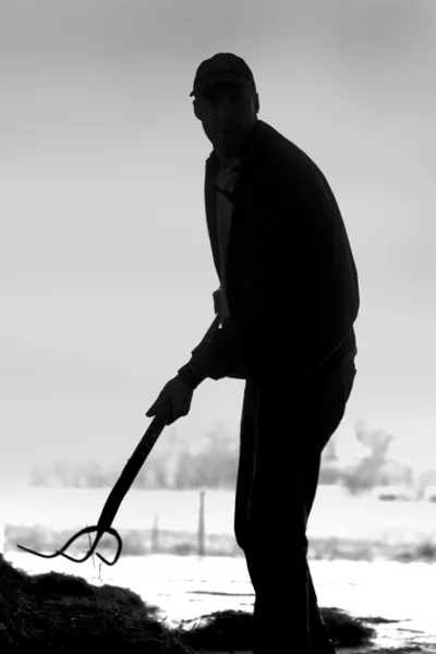
[[[322,171],[257,118],[243,59],[198,66],[194,113],[214,145],[205,205],[220,328],[150,407],[186,415],[205,378],[244,379],[234,532],[255,591],[254,654],[331,654],[307,565],[322,451],[350,397],[358,272]],[[286,620],[286,627],[282,623]]]

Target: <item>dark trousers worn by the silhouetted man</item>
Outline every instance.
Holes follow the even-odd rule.
[[[339,426],[354,359],[304,388],[249,379],[234,533],[255,591],[254,654],[316,653],[328,639],[307,564],[322,451]]]

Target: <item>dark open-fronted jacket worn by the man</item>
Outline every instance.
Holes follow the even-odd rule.
[[[219,279],[215,150],[206,160],[205,209]],[[226,295],[231,316],[193,351],[179,374],[203,378],[312,378],[355,356],[358,271],[334,193],[319,168],[257,119],[233,206]]]

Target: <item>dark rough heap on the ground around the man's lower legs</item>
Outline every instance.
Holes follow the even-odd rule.
[[[133,654],[206,654],[253,649],[253,615],[218,611],[167,628],[158,607],[130,589],[95,586],[81,577],[27,574],[0,555],[0,651],[76,654],[117,649]],[[374,630],[339,609],[322,609],[340,645],[367,642]],[[274,629],[275,626],[271,626]]]

